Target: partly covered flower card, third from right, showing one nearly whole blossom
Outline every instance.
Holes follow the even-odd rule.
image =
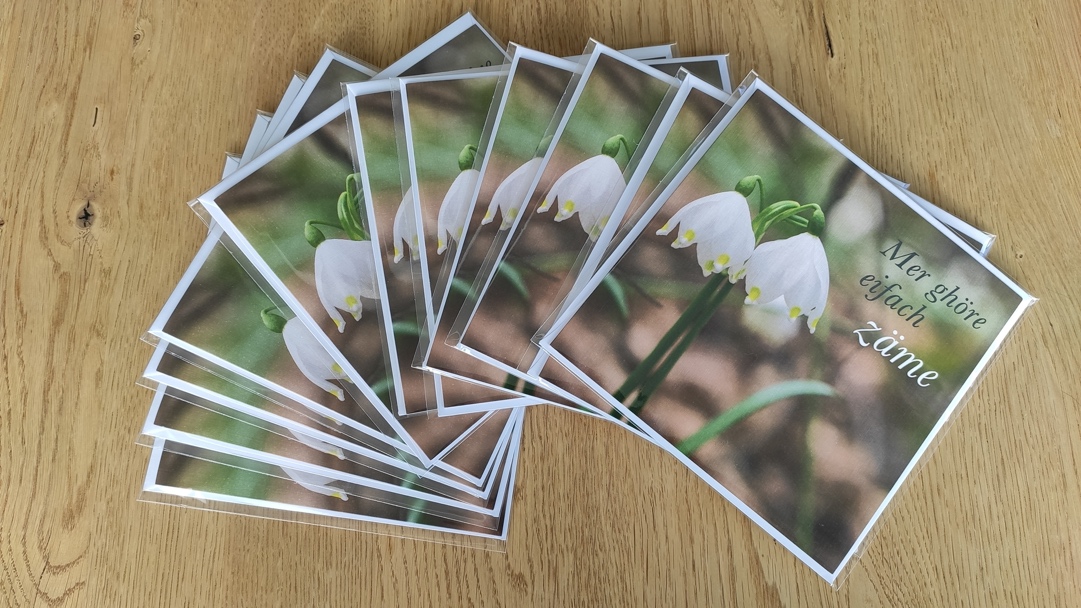
[[[492,243],[471,298],[451,328],[451,343],[457,340],[461,349],[505,373],[566,397],[564,404],[598,409],[580,384],[555,385],[528,373],[537,354],[531,342],[536,327],[501,328],[497,333],[489,328],[499,327],[508,306],[524,307],[526,318],[539,316],[534,321],[539,326],[558,303],[561,277],[582,247],[612,221],[626,173],[676,85],[675,78],[592,43],[580,79],[561,101],[566,109],[558,114],[538,173],[520,197],[522,211]],[[491,288],[508,272],[518,279],[518,293]],[[471,327],[480,329],[470,333]]]

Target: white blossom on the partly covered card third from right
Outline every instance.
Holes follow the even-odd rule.
[[[597,155],[575,164],[559,176],[548,190],[538,212],[556,206],[556,221],[562,222],[575,213],[582,229],[590,240],[597,240],[619,200],[627,183],[615,159]]]

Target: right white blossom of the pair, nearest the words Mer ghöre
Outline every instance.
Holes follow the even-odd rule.
[[[763,242],[747,262],[747,303],[784,298],[788,318],[808,318],[814,333],[829,295],[829,264],[822,239],[811,233]]]

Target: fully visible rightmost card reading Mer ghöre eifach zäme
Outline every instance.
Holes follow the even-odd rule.
[[[836,581],[1032,302],[753,80],[542,345]]]

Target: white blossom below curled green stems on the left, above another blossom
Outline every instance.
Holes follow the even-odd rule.
[[[370,240],[326,239],[316,248],[316,292],[338,332],[345,320],[338,310],[360,320],[361,298],[378,299],[375,248]]]

